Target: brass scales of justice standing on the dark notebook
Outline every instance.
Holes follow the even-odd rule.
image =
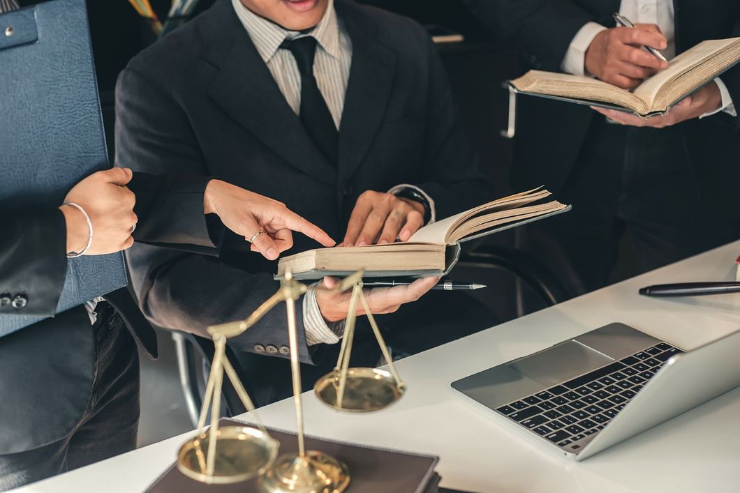
[[[332,372],[324,375],[314,385],[314,392],[319,400],[337,411],[371,412],[384,409],[401,398],[406,391],[406,386],[394,367],[386,342],[380,334],[374,316],[370,313],[363,293],[362,277],[363,271],[357,271],[343,279],[333,289],[342,293],[352,290],[349,313],[337,365]],[[349,486],[350,473],[344,463],[320,451],[306,451],[303,443],[303,402],[295,302],[309,289],[326,288],[306,286],[293,279],[290,271],[286,271],[277,293],[260,305],[248,319],[208,327],[215,344],[215,353],[198,419],[198,434],[186,441],[178,452],[177,467],[187,477],[206,484],[226,484],[259,476],[260,489],[265,493],[341,493]],[[248,330],[280,302],[286,303],[288,319],[298,453],[277,457],[280,443],[272,438],[263,426],[252,400],[239,381],[234,367],[229,363],[229,358],[226,357],[226,340]],[[358,302],[363,305],[380,350],[388,362],[389,372],[374,368],[349,367]],[[218,426],[224,372],[244,407],[255,416],[256,427]],[[209,408],[211,420],[209,430],[206,432]]]

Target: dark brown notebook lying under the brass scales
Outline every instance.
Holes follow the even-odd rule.
[[[239,424],[222,421],[221,426]],[[297,451],[294,433],[268,429],[280,441],[279,454]],[[439,458],[388,449],[306,437],[306,449],[318,449],[349,467],[347,493],[437,493],[440,476],[434,472]],[[183,475],[173,465],[149,488],[149,493],[258,493],[258,480],[229,485],[206,485]]]

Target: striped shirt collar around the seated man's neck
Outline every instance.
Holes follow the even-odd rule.
[[[299,31],[287,30],[266,18],[258,16],[252,10],[246,8],[240,0],[232,0],[232,4],[237,17],[249,34],[249,38],[252,38],[252,42],[265,63],[270,61],[286,38],[299,38],[303,35]],[[337,13],[334,11],[334,0],[329,0],[326,13],[308,35],[316,38],[320,47],[329,55],[339,58],[339,24]]]

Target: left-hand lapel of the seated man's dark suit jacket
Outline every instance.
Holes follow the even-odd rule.
[[[223,11],[217,17],[222,21],[216,28],[219,39],[206,45],[211,52],[204,56],[220,68],[209,86],[210,98],[280,157],[334,186],[336,169],[288,105],[231,2],[222,1],[213,8]]]

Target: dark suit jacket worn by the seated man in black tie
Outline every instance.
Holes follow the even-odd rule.
[[[366,190],[420,186],[438,217],[490,199],[428,34],[354,1],[335,6],[353,50],[338,166],[286,103],[229,0],[141,52],[121,73],[118,163],[221,178],[286,203],[334,239],[343,237]],[[286,254],[319,246],[294,238]],[[127,258],[142,310],[172,329],[204,334],[210,324],[245,319],[278,287],[275,263],[231,233],[218,259],[147,245],[135,245]],[[311,361],[299,333],[300,357]],[[255,352],[287,345],[284,306],[231,342]]]

